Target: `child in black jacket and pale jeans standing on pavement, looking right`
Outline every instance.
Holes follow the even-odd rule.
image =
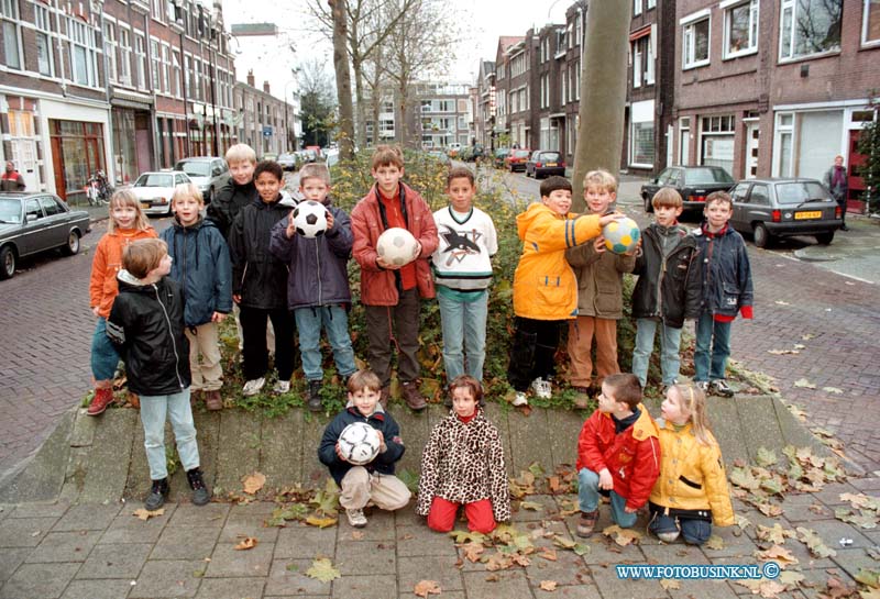
[[[141,396],[141,423],[153,486],[147,510],[168,496],[165,418],[172,421],[177,454],[193,489],[193,503],[211,499],[199,469],[199,446],[189,406],[189,344],[184,334],[184,295],[170,279],[172,257],[162,240],[132,242],[122,254],[119,296],[107,319],[107,335],[123,356],[129,389]]]

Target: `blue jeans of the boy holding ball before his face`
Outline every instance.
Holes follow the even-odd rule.
[[[333,348],[333,358],[340,376],[353,374],[358,367],[354,365],[354,350],[349,335],[349,315],[345,307],[317,306],[315,308],[298,308],[294,310],[296,328],[299,332],[299,354],[302,356],[302,371],[307,380],[321,380],[321,328],[327,331],[327,341]]]

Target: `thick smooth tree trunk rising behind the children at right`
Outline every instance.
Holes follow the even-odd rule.
[[[584,175],[604,168],[620,171],[624,144],[624,108],[627,88],[627,52],[632,2],[591,2],[586,12],[581,59],[581,106],[578,145],[574,149],[572,210],[585,208]]]

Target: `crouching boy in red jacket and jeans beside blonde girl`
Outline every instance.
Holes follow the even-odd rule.
[[[660,474],[660,431],[631,374],[610,375],[602,384],[598,409],[578,439],[581,520],[578,536],[590,536],[598,520],[600,495],[610,495],[612,519],[620,528],[636,523]]]

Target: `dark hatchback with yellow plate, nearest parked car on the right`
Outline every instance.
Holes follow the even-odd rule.
[[[730,225],[752,234],[758,247],[791,235],[814,235],[827,245],[843,225],[840,207],[816,179],[748,179],[736,184],[730,196]]]

